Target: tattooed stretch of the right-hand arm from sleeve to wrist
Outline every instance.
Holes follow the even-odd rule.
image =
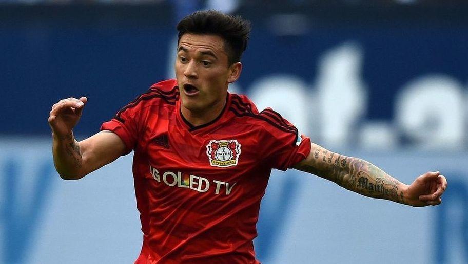
[[[401,183],[365,160],[317,148],[314,161],[306,169],[362,195],[404,203],[403,192],[398,189]]]

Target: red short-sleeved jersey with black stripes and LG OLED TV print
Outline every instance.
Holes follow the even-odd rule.
[[[135,263],[258,263],[253,238],[272,168],[310,152],[310,139],[267,108],[228,94],[221,114],[192,126],[175,80],[162,81],[102,125],[134,150],[143,248]]]

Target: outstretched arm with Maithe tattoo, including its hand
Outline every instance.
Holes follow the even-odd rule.
[[[426,172],[406,185],[365,160],[339,155],[312,143],[310,154],[294,168],[360,193],[411,206],[440,204],[447,180],[439,172]]]

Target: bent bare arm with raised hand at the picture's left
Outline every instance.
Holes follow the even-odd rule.
[[[55,169],[65,180],[81,179],[116,160],[125,151],[122,139],[108,130],[80,142],[75,140],[72,129],[79,121],[86,102],[86,97],[68,98],[54,104],[50,112]]]

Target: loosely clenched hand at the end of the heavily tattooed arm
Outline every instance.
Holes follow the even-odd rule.
[[[406,190],[406,203],[411,206],[439,205],[447,189],[447,179],[440,172],[426,172],[416,178]]]

